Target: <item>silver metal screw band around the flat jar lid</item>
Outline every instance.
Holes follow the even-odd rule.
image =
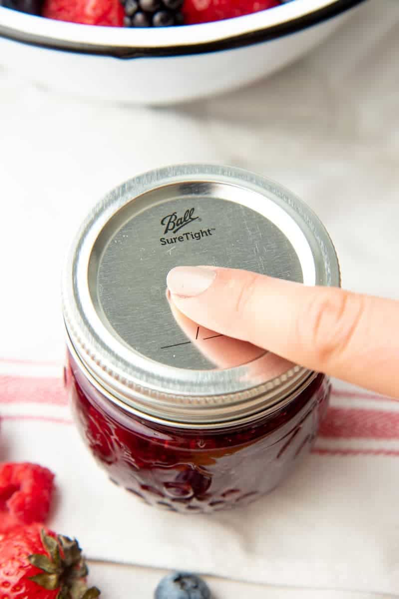
[[[295,220],[309,241],[315,270],[313,284],[340,285],[339,264],[327,231],[312,210],[291,192],[274,181],[238,168],[178,165],[126,181],[93,208],[66,258],[62,278],[63,316],[70,347],[111,397],[176,422],[221,422],[254,412],[260,406],[274,406],[308,380],[310,371],[280,359],[279,367],[273,371],[275,376],[265,380],[264,371],[272,356],[267,352],[247,364],[224,370],[160,364],[112,334],[99,318],[90,295],[90,257],[106,223],[147,192],[193,181],[229,190],[237,186],[260,197],[272,198]]]

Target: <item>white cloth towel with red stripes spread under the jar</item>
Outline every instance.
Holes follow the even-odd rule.
[[[109,484],[71,423],[59,299],[90,206],[188,161],[281,181],[327,226],[344,285],[399,299],[398,52],[399,2],[375,0],[299,65],[183,111],[93,107],[0,71],[0,459],[56,472],[51,525],[90,558],[399,595],[399,404],[337,382],[315,451],[269,497],[212,518],[157,512]]]

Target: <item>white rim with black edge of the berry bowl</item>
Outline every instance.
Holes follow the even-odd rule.
[[[129,29],[68,23],[0,7],[0,37],[66,52],[115,58],[185,56],[294,34],[365,0],[294,0],[234,19],[179,28]]]

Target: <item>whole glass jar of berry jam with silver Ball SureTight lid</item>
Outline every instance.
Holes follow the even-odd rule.
[[[166,294],[178,265],[339,286],[318,218],[235,168],[152,171],[83,223],[63,276],[66,385],[109,479],[166,510],[214,512],[266,494],[309,452],[330,395],[314,373],[189,320]]]

